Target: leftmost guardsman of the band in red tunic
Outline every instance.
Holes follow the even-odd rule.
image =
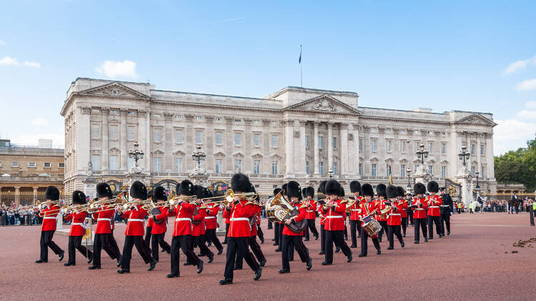
[[[65,251],[61,250],[52,238],[54,237],[54,232],[56,232],[56,219],[59,214],[59,190],[54,186],[49,186],[46,188],[45,201],[43,203],[44,209],[41,210],[40,215],[43,216],[43,224],[41,225],[41,256],[36,263],[48,262],[49,261],[49,249],[50,248],[54,254],[59,256],[59,261],[64,259]],[[36,213],[36,214],[39,214]]]

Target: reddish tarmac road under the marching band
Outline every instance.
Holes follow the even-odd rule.
[[[515,248],[518,240],[536,238],[527,213],[507,215],[452,216],[452,234],[414,245],[413,228],[405,238],[406,248],[395,240],[387,250],[384,238],[382,255],[376,255],[369,240],[369,256],[346,262],[335,253],[334,265],[323,267],[318,255],[319,240],[306,242],[313,258],[312,270],[295,255],[291,272],[279,275],[281,253],[274,252],[273,230],[267,230],[261,245],[267,257],[262,277],[253,280],[253,272],[235,271],[234,284],[220,286],[225,255],[214,262],[205,261],[204,271],[182,266],[181,277],[167,279],[169,255],[161,253],[154,271],[148,272],[137,251],[133,251],[131,273],[116,274],[115,260],[102,252],[102,269],[87,270],[79,253],[77,265],[64,267],[49,250],[49,263],[36,264],[39,258],[39,228],[0,228],[0,298],[2,300],[535,300],[536,248]],[[319,229],[319,225],[317,225]],[[122,248],[124,224],[115,237]],[[171,230],[166,240],[171,243]],[[67,250],[67,237],[55,235],[58,245]],[[349,241],[348,241],[349,243]],[[359,243],[358,243],[359,245]],[[536,247],[536,243],[532,243]],[[214,250],[214,247],[211,247]],[[518,251],[512,253],[512,251]],[[67,252],[66,252],[67,253]],[[225,253],[224,253],[225,254]]]

